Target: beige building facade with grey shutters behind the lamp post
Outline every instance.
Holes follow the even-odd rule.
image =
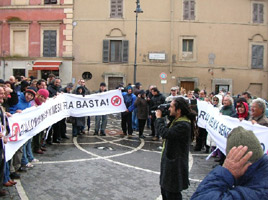
[[[137,0],[76,0],[73,77],[133,83]],[[267,0],[140,0],[136,81],[267,99]],[[160,74],[167,77],[162,80]]]

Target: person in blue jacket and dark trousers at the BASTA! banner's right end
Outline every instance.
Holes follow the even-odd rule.
[[[131,85],[127,86],[126,92],[123,92],[122,95],[127,110],[121,113],[121,126],[123,134],[127,135],[128,132],[128,136],[132,137],[132,111],[135,108],[134,103],[136,101],[136,96],[133,94],[133,88]]]

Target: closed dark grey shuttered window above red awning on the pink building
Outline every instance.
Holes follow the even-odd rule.
[[[43,57],[57,56],[57,31],[44,30],[43,32]]]

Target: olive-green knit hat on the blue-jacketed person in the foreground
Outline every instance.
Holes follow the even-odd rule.
[[[255,136],[253,131],[249,131],[241,126],[238,126],[237,128],[234,128],[228,135],[226,155],[234,146],[238,147],[240,145],[247,146],[248,147],[247,152],[252,151],[253,155],[249,159],[249,161],[252,163],[259,160],[264,154],[262,147],[260,145],[260,141]]]

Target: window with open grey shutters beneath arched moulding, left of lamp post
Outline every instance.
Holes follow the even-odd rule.
[[[104,63],[128,62],[128,40],[103,40]]]

